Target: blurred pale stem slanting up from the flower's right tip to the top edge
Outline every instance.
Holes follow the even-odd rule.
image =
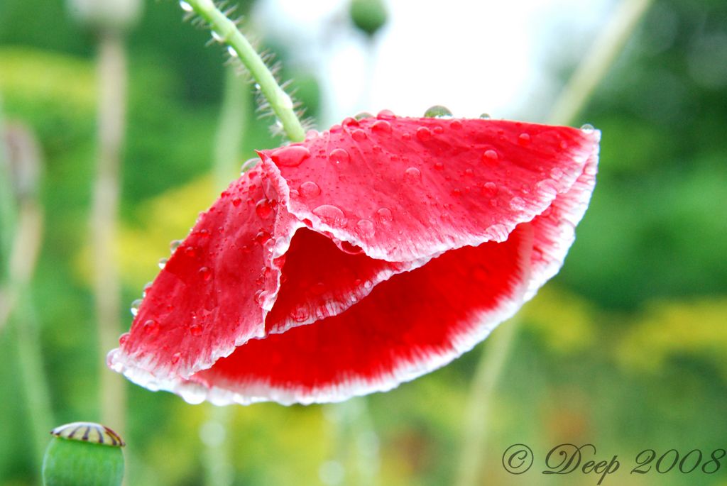
[[[585,107],[593,90],[601,83],[616,57],[632,36],[636,25],[646,13],[652,0],[622,0],[613,17],[563,88],[550,110],[548,123],[573,123]]]

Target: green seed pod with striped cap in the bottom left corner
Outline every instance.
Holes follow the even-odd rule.
[[[43,458],[45,486],[119,486],[124,479],[124,441],[100,424],[73,422],[51,431]]]

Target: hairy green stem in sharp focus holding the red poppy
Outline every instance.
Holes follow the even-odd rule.
[[[187,0],[186,3],[209,24],[216,39],[234,49],[252,78],[260,85],[262,95],[270,103],[270,108],[282,123],[288,138],[292,142],[302,142],[305,139],[305,130],[295,114],[293,101],[278,85],[273,73],[235,23],[217,9],[212,0]]]

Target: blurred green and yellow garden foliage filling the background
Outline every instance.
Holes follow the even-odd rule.
[[[257,118],[251,90],[240,84],[236,95],[228,85],[226,106],[241,114],[240,145],[231,144],[231,162],[215,155],[222,49],[205,45],[208,31],[182,23],[176,3],[144,7],[126,36],[119,333],[131,321],[126,303],[156,275],[169,241],[214,200],[220,181],[236,177],[255,148],[281,143],[270,119]],[[96,45],[94,31],[63,1],[0,2],[4,143],[32,146],[23,142],[32,134],[42,166],[36,188],[17,196],[17,177],[11,185],[20,200],[36,194],[44,214],[21,311],[0,328],[1,486],[38,484],[33,426],[100,420],[100,381],[121,380],[100,367],[92,292]],[[265,47],[315,119],[323,96],[316,73],[286,70],[286,46]],[[572,62],[552,60],[563,81]],[[484,400],[473,383],[502,328],[435,373],[338,405],[218,409],[124,384],[126,420],[107,425],[129,444],[126,484],[595,485],[595,474],[539,474],[550,447],[590,442],[597,458],[618,455],[622,463],[603,484],[726,486],[727,458],[715,474],[629,471],[646,448],[658,455],[700,449],[705,460],[727,448],[727,3],[654,1],[578,118],[603,132],[593,202],[563,270],[517,318]],[[0,240],[14,238],[8,227]],[[8,247],[0,251],[6,264]],[[3,278],[7,297],[12,278],[5,271]],[[28,346],[47,381],[43,416],[33,403],[43,400],[43,386],[28,383],[27,367],[36,363]],[[534,468],[519,476],[501,463],[516,442],[535,453]],[[467,463],[473,450],[476,461]],[[475,468],[473,482],[462,479],[462,464]]]

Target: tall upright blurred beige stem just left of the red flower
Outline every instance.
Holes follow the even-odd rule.
[[[98,44],[98,155],[91,216],[98,353],[118,344],[121,285],[116,265],[119,171],[126,123],[126,52],[118,31],[100,31]],[[100,362],[101,422],[124,435],[124,381]]]

